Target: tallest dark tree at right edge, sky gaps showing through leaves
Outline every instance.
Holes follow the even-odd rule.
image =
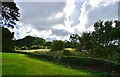
[[[115,26],[113,26],[115,23]],[[103,57],[118,53],[120,45],[120,21],[98,21],[94,24],[95,31],[93,51]]]

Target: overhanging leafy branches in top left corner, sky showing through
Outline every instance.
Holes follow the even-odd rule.
[[[2,2],[2,20],[8,27],[14,28],[16,21],[19,21],[18,17],[20,17],[19,9],[16,6],[16,3],[13,2]]]

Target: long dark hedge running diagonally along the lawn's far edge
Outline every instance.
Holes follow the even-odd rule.
[[[53,61],[53,62],[59,62],[62,64],[67,64],[70,66],[76,66],[76,67],[94,67],[97,69],[101,69],[107,72],[119,72],[120,73],[120,64],[108,61],[108,60],[103,60],[99,58],[81,58],[81,57],[72,57],[72,56],[62,56],[62,57],[55,57],[52,55],[47,55],[47,54],[38,54],[38,53],[32,53],[30,54],[31,56],[48,60],[48,61]]]

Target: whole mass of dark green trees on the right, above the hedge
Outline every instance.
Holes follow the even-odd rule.
[[[113,26],[113,23],[115,24]],[[76,40],[76,38],[73,38]],[[84,32],[76,44],[76,51],[90,53],[92,57],[118,59],[120,55],[120,21],[97,21],[93,32]],[[115,60],[118,62],[118,60]]]

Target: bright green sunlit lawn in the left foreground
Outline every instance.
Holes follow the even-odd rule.
[[[89,72],[65,68],[64,66],[37,59],[25,54],[2,53],[3,75],[92,75]]]

